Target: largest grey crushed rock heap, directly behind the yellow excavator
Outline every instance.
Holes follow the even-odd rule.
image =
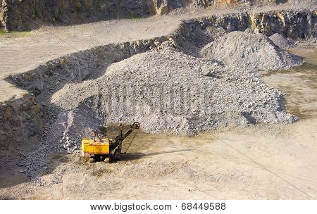
[[[283,111],[282,94],[251,70],[228,68],[172,48],[113,63],[95,80],[66,84],[51,102],[81,123],[89,118],[104,123],[139,121],[150,133],[197,134],[218,127],[296,120]],[[85,124],[80,127],[84,132]]]

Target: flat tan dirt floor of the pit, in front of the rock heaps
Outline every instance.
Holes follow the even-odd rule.
[[[306,63],[262,78],[288,94],[299,122],[196,137],[138,132],[128,155],[110,165],[87,163],[78,151],[48,157],[32,182],[20,168],[3,170],[0,198],[317,199],[317,49],[291,51]]]

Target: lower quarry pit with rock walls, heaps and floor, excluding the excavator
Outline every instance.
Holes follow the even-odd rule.
[[[6,76],[23,92],[0,107],[0,196],[316,199],[316,16],[197,16]],[[115,136],[118,122],[133,121],[142,130],[123,160],[82,160],[83,136],[100,125]],[[97,185],[105,189],[82,192]]]

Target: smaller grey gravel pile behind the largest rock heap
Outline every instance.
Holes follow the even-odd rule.
[[[261,34],[230,32],[201,49],[201,56],[225,62],[234,67],[260,70],[282,70],[302,65],[302,58],[276,46]]]

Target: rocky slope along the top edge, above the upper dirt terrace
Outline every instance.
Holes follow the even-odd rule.
[[[178,8],[263,6],[293,0],[1,0],[0,27],[7,31],[31,30],[43,23],[70,25],[96,20],[140,18],[169,13]],[[302,1],[313,2],[311,0]],[[298,4],[298,3],[296,3]]]

